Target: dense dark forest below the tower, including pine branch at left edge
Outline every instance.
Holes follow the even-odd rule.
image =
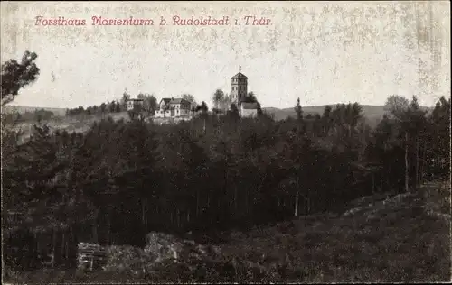
[[[15,64],[33,65],[33,55]],[[9,77],[9,89],[2,82],[2,104],[33,70]],[[440,97],[431,112],[416,97],[391,96],[386,106],[376,129],[365,124],[358,103],[306,117],[298,99],[297,118],[278,122],[265,113],[245,119],[234,110],[203,110],[181,124],[106,118],[87,133],[36,124],[24,144],[3,122],[4,239],[26,244],[47,234],[40,250],[72,266],[78,242],[143,246],[151,231],[247,229],[448,179],[450,97]],[[4,254],[11,266],[35,266],[24,251],[20,261]]]

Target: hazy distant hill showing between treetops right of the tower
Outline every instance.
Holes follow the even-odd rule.
[[[324,113],[326,105],[321,106],[302,106],[303,113],[305,115],[311,114],[319,114],[322,115]],[[334,108],[335,104],[330,105],[332,108]],[[363,106],[363,115],[364,118],[367,121],[367,124],[369,124],[371,127],[376,126],[381,118],[384,115],[384,106],[373,106],[373,105],[362,105]],[[426,110],[431,110],[432,107],[422,107]],[[264,112],[267,112],[268,114],[274,115],[275,120],[284,120],[287,119],[287,117],[296,117],[295,109],[292,108],[284,108],[284,109],[278,109],[274,107],[267,107],[262,108]]]

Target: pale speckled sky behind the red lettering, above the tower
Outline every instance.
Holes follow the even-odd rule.
[[[263,107],[358,102],[391,95],[434,106],[450,96],[450,4],[403,2],[1,2],[1,61],[38,54],[40,77],[12,103],[75,107],[118,100],[127,90],[192,94],[212,106],[217,88],[248,77]],[[230,25],[178,26],[172,18],[229,17]],[[244,17],[270,20],[245,25]],[[84,26],[36,25],[84,19]],[[154,25],[93,25],[152,19]],[[160,19],[167,21],[159,25]],[[235,25],[238,20],[238,25]]]

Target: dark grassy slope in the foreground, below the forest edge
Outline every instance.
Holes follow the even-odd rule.
[[[233,233],[220,254],[152,271],[21,273],[15,282],[440,282],[450,281],[450,188],[374,196],[343,215]],[[139,268],[139,267],[138,267]]]

